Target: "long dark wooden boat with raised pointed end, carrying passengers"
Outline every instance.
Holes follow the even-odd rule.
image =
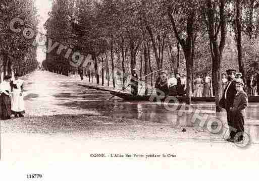
[[[168,97],[164,97],[164,96],[158,96],[158,95],[132,95],[129,93],[124,93],[124,92],[118,92],[118,91],[114,91],[114,90],[109,90],[106,88],[102,88],[102,87],[96,87],[96,86],[89,86],[89,85],[83,85],[83,84],[78,84],[79,86],[82,87],[87,87],[87,88],[91,88],[91,89],[95,89],[95,90],[100,90],[100,91],[107,91],[110,92],[112,95],[120,97],[124,100],[128,100],[128,101],[164,101],[166,98],[167,100],[175,100],[177,99],[179,102],[184,102],[186,97],[184,96],[168,96]],[[215,102],[215,97],[191,97],[191,101],[193,102]],[[248,96],[248,102],[259,102],[259,96]]]

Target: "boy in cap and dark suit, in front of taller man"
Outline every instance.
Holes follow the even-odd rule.
[[[247,94],[244,92],[243,87],[244,87],[244,83],[242,81],[236,82],[237,93],[235,95],[233,107],[230,109],[231,117],[233,121],[233,127],[234,127],[232,132],[235,132],[235,137],[233,142],[243,141],[243,133],[244,133],[243,110],[248,105],[248,97],[247,97]]]

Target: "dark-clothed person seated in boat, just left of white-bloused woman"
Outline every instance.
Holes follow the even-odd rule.
[[[167,72],[163,71],[161,72],[160,78],[158,78],[155,88],[160,90],[157,90],[157,94],[161,95],[161,91],[165,93],[165,96],[169,94],[169,89],[168,89],[168,77],[167,77]]]

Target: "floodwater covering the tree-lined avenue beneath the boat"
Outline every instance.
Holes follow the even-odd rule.
[[[226,112],[215,112],[213,102],[195,102],[191,107],[185,108],[183,104],[163,104],[159,102],[132,102],[124,101],[103,92],[78,86],[79,78],[65,77],[46,71],[36,71],[23,77],[27,95],[25,100],[31,102],[31,112],[36,111],[37,102],[41,107],[47,107],[50,113],[95,112],[101,115],[119,118],[136,118],[148,122],[170,124],[175,126],[198,127],[199,121],[195,117],[209,116],[218,118],[224,125]],[[43,111],[39,110],[39,112]],[[252,132],[257,138],[259,133],[259,105],[250,103],[245,110],[246,130]],[[209,120],[208,119],[208,120]]]

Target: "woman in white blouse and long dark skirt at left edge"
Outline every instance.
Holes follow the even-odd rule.
[[[11,76],[5,76],[4,81],[1,83],[1,118],[11,118]]]

